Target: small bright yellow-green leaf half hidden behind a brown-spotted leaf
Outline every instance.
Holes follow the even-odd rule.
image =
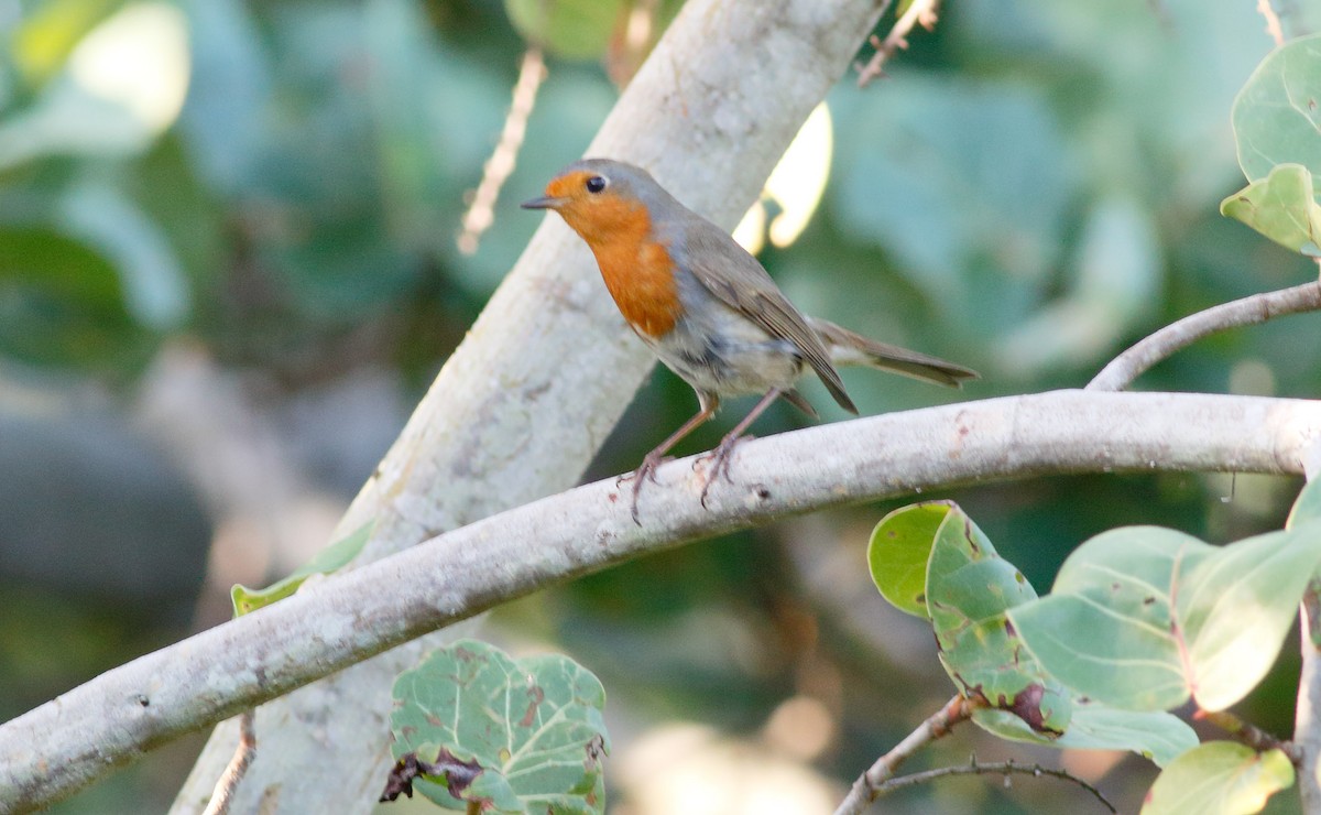
[[[867,544],[867,565],[881,597],[914,617],[927,618],[926,563],[935,531],[954,505],[914,503],[881,518]]]

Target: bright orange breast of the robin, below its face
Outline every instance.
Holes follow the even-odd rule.
[[[670,252],[649,232],[646,210],[639,209],[629,229],[610,230],[608,238],[589,244],[620,313],[634,330],[655,338],[668,334],[679,320],[679,285]]]

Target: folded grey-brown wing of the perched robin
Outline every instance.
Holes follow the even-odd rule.
[[[798,346],[835,402],[856,413],[857,407],[844,392],[844,382],[830,361],[830,351],[761,263],[713,223],[690,225],[686,232],[683,262],[692,276],[721,302],[737,309],[773,337]],[[713,263],[720,264],[719,272]]]

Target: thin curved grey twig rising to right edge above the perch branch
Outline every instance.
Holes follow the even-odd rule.
[[[1161,359],[1172,357],[1207,334],[1317,309],[1321,309],[1321,281],[1277,292],[1263,292],[1189,314],[1115,357],[1087,383],[1086,390],[1122,391]]]

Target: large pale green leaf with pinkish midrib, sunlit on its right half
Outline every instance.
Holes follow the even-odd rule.
[[[1223,709],[1260,682],[1321,563],[1314,524],[1226,547],[1159,527],[1103,532],[1054,592],[1009,612],[1030,653],[1075,692],[1160,711]]]

